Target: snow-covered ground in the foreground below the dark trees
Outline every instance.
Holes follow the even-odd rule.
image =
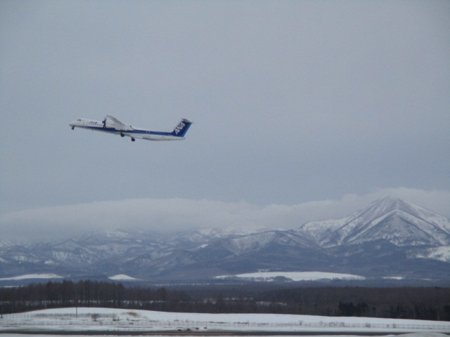
[[[276,314],[200,314],[59,308],[3,315],[0,331],[240,331],[245,333],[450,333],[450,322]]]

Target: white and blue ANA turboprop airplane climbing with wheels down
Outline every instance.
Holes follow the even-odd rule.
[[[120,135],[121,137],[127,136],[134,142],[136,138],[146,140],[183,140],[191,124],[192,122],[188,121],[188,119],[181,119],[173,131],[150,131],[134,128],[129,124],[123,124],[122,121],[108,114],[103,121],[77,119],[76,121],[70,122],[69,125],[72,127],[72,130],[75,128],[86,128],[92,131],[108,132],[114,135]]]

